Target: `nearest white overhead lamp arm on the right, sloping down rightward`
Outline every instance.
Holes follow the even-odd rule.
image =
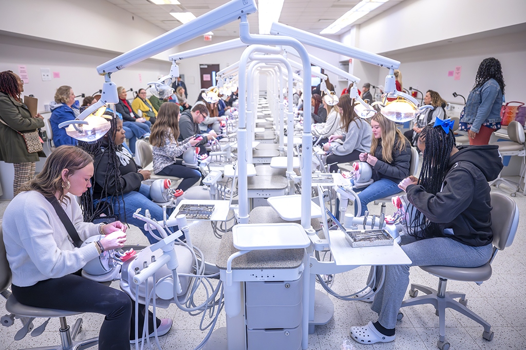
[[[349,47],[337,41],[327,39],[306,31],[302,31],[301,29],[294,28],[278,22],[272,23],[270,34],[291,36],[298,39],[298,41],[302,44],[318,47],[323,50],[348,56],[350,58],[356,58],[360,61],[374,64],[380,67],[392,69],[398,69],[398,67],[400,67],[400,62],[396,61],[395,59],[373,54],[371,52],[361,50],[356,47]]]

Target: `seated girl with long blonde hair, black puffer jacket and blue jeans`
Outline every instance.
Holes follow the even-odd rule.
[[[396,124],[377,113],[371,119],[371,128],[371,152],[360,153],[359,159],[372,167],[375,182],[358,194],[361,213],[357,213],[355,206],[355,216],[363,216],[368,203],[401,192],[398,183],[409,176],[411,145]]]

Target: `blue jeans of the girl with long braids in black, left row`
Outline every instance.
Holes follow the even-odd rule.
[[[98,202],[98,199],[96,199],[95,202]],[[139,227],[140,231],[142,231],[146,238],[148,238],[150,244],[157,243],[157,239],[152,237],[150,233],[144,229],[145,222],[133,217],[133,214],[138,208],[141,208],[141,214],[145,215],[145,211],[148,209],[152,219],[156,219],[158,222],[163,221],[163,208],[151,201],[149,185],[141,184],[138,192],[131,191],[114,199],[113,210],[115,215],[119,217],[119,220],[126,221],[126,223],[130,225]],[[168,210],[167,215],[169,215]],[[170,229],[172,232],[175,232],[178,228],[177,226],[174,226],[170,227]],[[160,235],[158,232],[155,232],[155,234],[158,236]]]

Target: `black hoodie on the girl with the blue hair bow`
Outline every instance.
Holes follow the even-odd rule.
[[[449,158],[446,178],[437,195],[420,185],[407,186],[407,199],[427,219],[438,223],[437,237],[449,237],[470,246],[493,241],[491,198],[488,181],[499,175],[503,164],[499,147],[460,146]],[[452,230],[451,230],[452,229]]]

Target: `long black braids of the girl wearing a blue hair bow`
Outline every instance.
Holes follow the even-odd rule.
[[[424,191],[436,195],[442,188],[446,177],[449,156],[453,147],[456,146],[453,131],[449,129],[446,134],[441,126],[427,125],[422,129],[418,142],[424,143],[426,148],[422,153],[422,169],[418,178],[418,185]],[[426,217],[416,213],[411,218],[409,234],[417,239],[432,237],[438,232],[439,225],[429,222]]]

